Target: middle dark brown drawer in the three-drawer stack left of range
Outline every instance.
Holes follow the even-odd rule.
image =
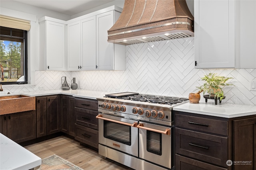
[[[96,119],[98,111],[91,111],[78,108],[75,108],[75,111],[77,124],[98,130],[98,119]]]

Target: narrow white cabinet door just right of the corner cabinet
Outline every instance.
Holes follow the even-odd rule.
[[[68,66],[67,70],[80,70],[81,66],[80,21],[68,24]]]

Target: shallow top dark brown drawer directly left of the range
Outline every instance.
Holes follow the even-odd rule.
[[[93,99],[75,99],[75,107],[98,110],[98,101]]]

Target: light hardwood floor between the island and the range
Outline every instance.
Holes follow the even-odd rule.
[[[56,154],[84,170],[133,170],[118,162],[104,158],[96,151],[83,147],[78,141],[65,136],[28,145],[25,148],[40,158]]]

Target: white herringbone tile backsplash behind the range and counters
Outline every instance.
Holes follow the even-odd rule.
[[[224,87],[223,102],[256,105],[256,91],[250,91],[256,69],[195,69],[194,37],[127,45],[125,71],[36,71],[35,86],[12,90],[60,89],[61,76],[66,76],[68,83],[76,77],[78,88],[85,90],[188,97],[209,72],[234,78],[235,86]]]

